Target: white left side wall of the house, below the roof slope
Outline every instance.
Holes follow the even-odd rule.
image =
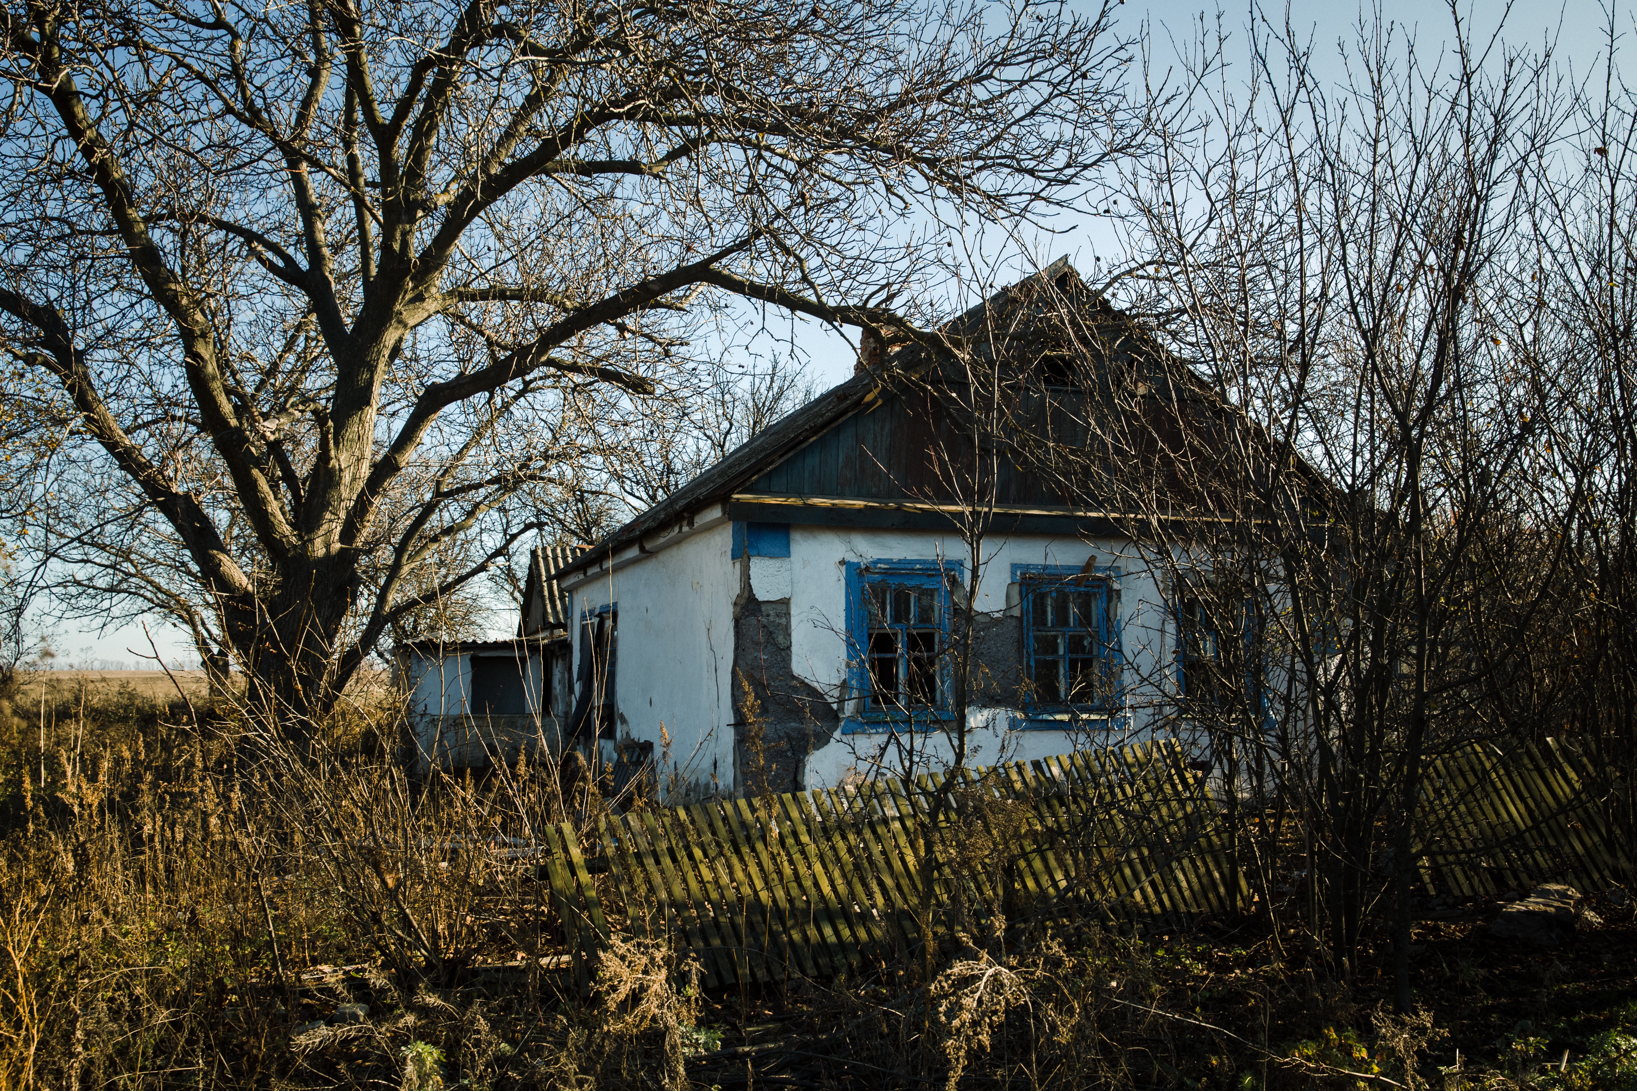
[[[576,625],[588,610],[619,604],[619,731],[653,743],[661,792],[733,788],[733,599],[740,587],[732,543],[733,527],[724,522],[571,592]],[[573,654],[578,679],[578,628]]]

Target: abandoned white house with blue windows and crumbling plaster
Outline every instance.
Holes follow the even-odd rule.
[[[1000,311],[1017,327],[1046,286],[1102,324],[1103,371],[1116,358],[1130,370],[1144,352],[1133,345],[1152,343],[1130,337],[1134,324],[1066,260],[945,330],[994,327]],[[959,618],[971,618],[979,661],[969,761],[1154,730],[1167,687],[1185,685],[1179,615],[1097,504],[1000,458],[966,600],[972,563],[958,523],[974,501],[949,487],[959,473],[935,451],[972,448],[951,440],[961,429],[935,378],[884,379],[931,375],[930,355],[861,360],[851,379],[555,571],[575,623],[571,739],[599,739],[604,759],[650,752],[666,797],[833,787],[900,769],[907,749],[936,764],[953,738],[946,653]],[[1084,393],[1059,355],[1026,366],[1049,397]],[[1089,443],[1084,422],[1079,438],[1062,432]]]

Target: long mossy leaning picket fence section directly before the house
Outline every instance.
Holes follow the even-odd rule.
[[[923,936],[928,870],[936,932],[964,914],[981,934],[995,913],[1188,923],[1247,900],[1203,775],[1172,741],[969,770],[951,788],[954,824],[935,834],[927,808],[943,783],[640,811],[606,819],[586,847],[557,828],[545,872],[576,975],[611,934],[594,870],[611,875],[625,927],[692,952],[707,986],[905,955]],[[985,837],[987,865],[974,864]]]

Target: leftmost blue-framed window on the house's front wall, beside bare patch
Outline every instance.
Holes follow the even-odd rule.
[[[848,561],[845,731],[949,718],[949,582],[956,561]]]

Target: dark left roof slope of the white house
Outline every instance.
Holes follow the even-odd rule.
[[[1072,272],[1074,268],[1069,265],[1069,258],[1058,258],[1038,273],[1025,276],[1008,288],[1002,288],[984,303],[979,303],[959,317],[946,322],[941,327],[941,332],[956,339],[967,337],[976,332],[985,311],[1012,298],[1026,285],[1036,281],[1046,283],[1062,273]],[[925,350],[920,345],[905,345],[904,348],[892,352],[889,366],[894,371],[910,371],[920,366],[923,358]],[[598,541],[578,556],[571,556],[560,568],[552,569],[552,574],[555,577],[561,577],[570,571],[594,564],[602,558],[612,556],[616,551],[638,540],[642,535],[676,522],[688,512],[697,509],[701,504],[730,496],[740,484],[755,478],[763,468],[778,461],[846,414],[858,409],[879,386],[879,375],[861,371],[845,383],[830,388],[827,393],[812,399],[800,409],[781,417],[740,443],[737,448],[728,451],[722,461],[715,463],[681,489],[642,512],[609,537],[602,538],[602,541]]]

